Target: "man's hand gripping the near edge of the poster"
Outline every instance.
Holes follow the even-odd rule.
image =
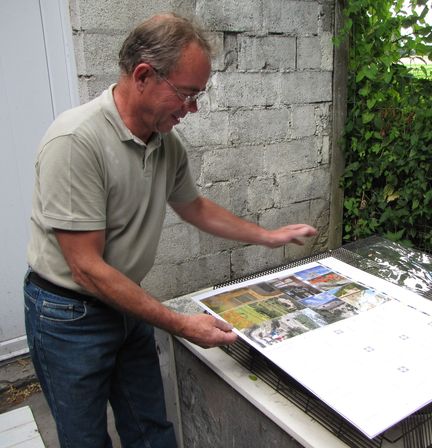
[[[203,348],[232,344],[237,335],[232,325],[208,314],[183,316],[184,322],[178,336]]]

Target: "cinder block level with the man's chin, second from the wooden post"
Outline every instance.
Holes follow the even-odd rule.
[[[262,144],[288,137],[288,109],[237,110],[229,117],[230,141],[233,144]]]

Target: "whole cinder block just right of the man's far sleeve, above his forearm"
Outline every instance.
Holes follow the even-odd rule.
[[[229,147],[206,151],[203,155],[202,183],[247,178],[262,174],[261,146]]]

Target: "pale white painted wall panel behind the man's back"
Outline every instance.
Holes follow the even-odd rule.
[[[26,271],[33,167],[53,118],[78,104],[67,0],[0,1],[0,360],[27,350]]]

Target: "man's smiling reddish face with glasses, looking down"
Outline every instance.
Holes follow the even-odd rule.
[[[183,50],[177,68],[166,78],[154,72],[154,83],[146,98],[147,106],[151,107],[148,124],[153,132],[168,132],[189,112],[198,110],[196,102],[188,103],[184,98],[205,90],[210,70],[207,55],[192,43]]]

